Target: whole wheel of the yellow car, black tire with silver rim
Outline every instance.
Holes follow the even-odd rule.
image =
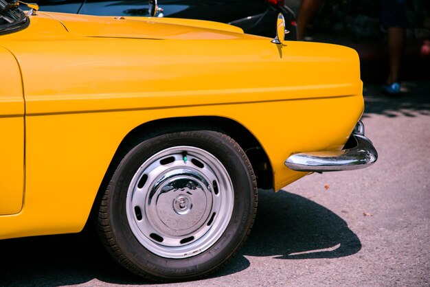
[[[256,178],[236,141],[210,130],[168,133],[137,144],[117,165],[98,231],[137,275],[196,279],[238,251],[256,209]]]

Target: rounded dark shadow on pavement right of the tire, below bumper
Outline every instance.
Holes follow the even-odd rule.
[[[259,196],[258,215],[244,255],[337,258],[361,249],[346,222],[312,200],[282,190],[260,190]]]

